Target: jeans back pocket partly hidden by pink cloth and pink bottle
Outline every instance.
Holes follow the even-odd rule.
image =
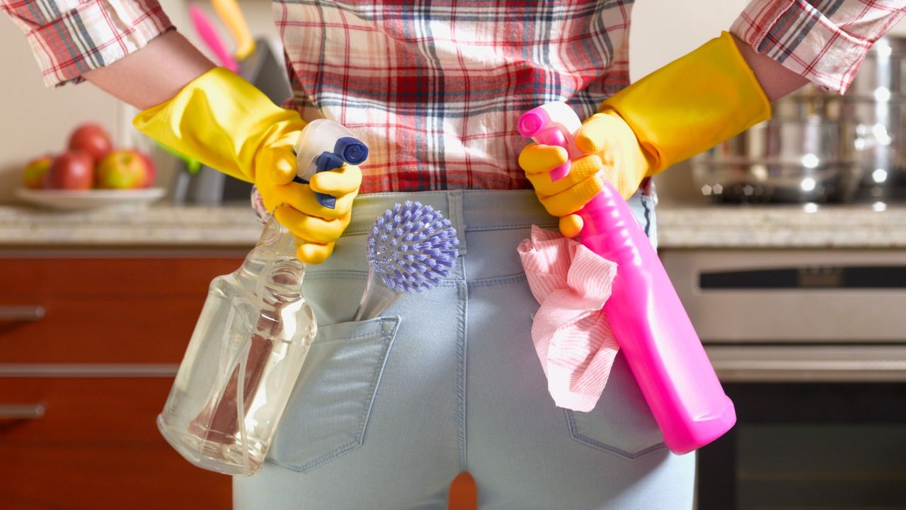
[[[622,352],[597,405],[588,413],[564,411],[570,436],[587,446],[629,459],[667,447]]]

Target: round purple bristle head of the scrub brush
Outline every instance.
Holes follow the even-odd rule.
[[[414,293],[447,277],[459,240],[450,221],[429,205],[406,201],[371,227],[368,261],[389,289]]]

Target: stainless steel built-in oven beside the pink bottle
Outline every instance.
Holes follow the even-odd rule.
[[[906,251],[661,259],[737,409],[699,510],[906,510]]]

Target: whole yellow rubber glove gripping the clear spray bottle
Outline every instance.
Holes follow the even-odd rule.
[[[267,211],[304,240],[296,255],[318,264],[349,226],[361,171],[352,165],[293,182],[296,139],[305,126],[299,113],[280,108],[233,72],[218,67],[188,83],[165,103],[139,113],[135,127],[171,149],[243,181],[255,182]],[[323,207],[315,192],[335,197]]]

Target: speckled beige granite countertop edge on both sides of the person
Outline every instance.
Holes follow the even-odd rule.
[[[811,208],[811,209],[810,209]],[[906,248],[906,204],[662,205],[661,249]],[[261,225],[247,206],[58,212],[0,205],[0,246],[250,247]]]

